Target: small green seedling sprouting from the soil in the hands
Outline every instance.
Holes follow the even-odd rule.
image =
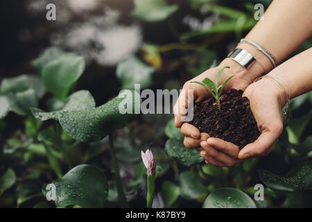
[[[225,87],[225,85],[229,82],[229,80],[233,77],[233,76],[230,76],[229,78],[227,78],[227,80],[225,80],[225,82],[222,85],[218,85],[218,82],[219,82],[219,79],[223,70],[227,68],[229,69],[229,67],[223,67],[218,72],[216,76],[216,83],[214,83],[210,78],[204,78],[204,80],[202,80],[202,83],[198,81],[191,82],[191,83],[197,83],[199,85],[202,85],[203,87],[208,89],[208,91],[212,94],[212,96],[214,96],[214,99],[216,99],[216,105],[218,105],[219,109],[220,109],[220,99],[221,99],[222,90]]]

